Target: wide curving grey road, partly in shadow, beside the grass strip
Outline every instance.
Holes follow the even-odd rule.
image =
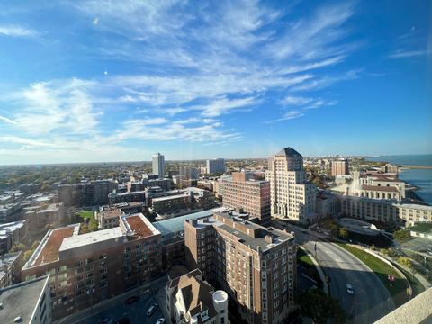
[[[310,230],[295,232],[296,240],[317,258],[324,273],[331,278],[330,293],[347,311],[351,323],[374,323],[394,310],[392,296],[380,279],[363,262],[336,244],[323,242]],[[315,252],[316,244],[316,252]],[[354,295],[347,293],[352,284]]]

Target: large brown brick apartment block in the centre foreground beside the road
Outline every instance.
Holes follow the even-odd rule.
[[[186,265],[220,284],[248,323],[279,323],[294,309],[296,246],[285,231],[233,211],[184,221]]]

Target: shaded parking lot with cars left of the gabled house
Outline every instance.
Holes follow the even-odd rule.
[[[139,296],[139,301],[127,303],[122,301],[121,303],[113,306],[112,308],[95,314],[81,323],[85,324],[154,324],[158,319],[163,317],[162,311],[159,307],[151,316],[147,316],[147,310],[151,304],[157,303],[155,297],[150,293],[144,293]]]

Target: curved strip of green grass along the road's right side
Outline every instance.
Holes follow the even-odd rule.
[[[350,247],[343,243],[337,243],[339,247],[345,248],[348,252],[353,254],[362,260],[366,266],[369,266],[375,275],[380,278],[385,287],[391,293],[394,305],[396,307],[401,306],[403,303],[408,302],[407,288],[408,285],[406,281],[399,275],[396,271],[392,271],[394,276],[394,282],[389,281],[388,275],[390,274],[390,266],[384,263],[377,257],[368,254],[361,249],[356,247]],[[414,289],[414,288],[413,288]]]

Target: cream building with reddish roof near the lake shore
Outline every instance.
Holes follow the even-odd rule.
[[[370,199],[401,201],[405,198],[405,183],[397,174],[379,172],[353,173],[353,183],[347,184],[345,194]]]

